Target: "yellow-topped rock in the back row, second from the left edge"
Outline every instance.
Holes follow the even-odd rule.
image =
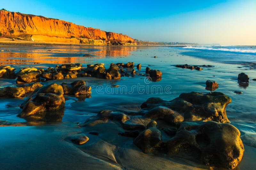
[[[20,71],[16,74],[17,80],[16,83],[30,83],[40,81],[41,71],[32,67],[24,67],[21,68]]]

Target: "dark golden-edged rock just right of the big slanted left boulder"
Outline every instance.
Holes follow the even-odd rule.
[[[62,83],[65,95],[88,95],[92,93],[92,87],[86,86],[84,80],[77,80],[70,84]]]

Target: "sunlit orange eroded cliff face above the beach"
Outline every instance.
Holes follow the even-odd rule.
[[[3,36],[18,36],[25,37],[26,39],[29,37],[30,40],[37,40],[38,36],[35,35],[41,35],[40,40],[46,42],[53,42],[55,40],[57,42],[69,42],[69,40],[66,40],[67,38],[75,37],[83,39],[82,41],[75,40],[75,43],[93,42],[93,40],[96,40],[95,43],[102,43],[98,43],[99,45],[136,44],[135,40],[127,35],[105,32],[100,29],[88,28],[59,19],[3,10],[0,10],[0,32]],[[56,37],[59,39],[56,39]]]

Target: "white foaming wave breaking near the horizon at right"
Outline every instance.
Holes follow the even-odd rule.
[[[224,47],[224,46],[218,46],[218,47],[212,47],[212,46],[186,46],[183,48],[187,49],[195,49],[195,50],[213,50],[213,51],[227,51],[227,52],[239,52],[239,53],[256,53],[255,48],[239,48],[239,47]]]

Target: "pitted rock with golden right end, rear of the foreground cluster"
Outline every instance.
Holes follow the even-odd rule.
[[[143,111],[148,112],[151,109],[165,106],[183,115],[184,121],[212,120],[220,123],[229,123],[225,110],[229,103],[231,103],[231,98],[220,92],[210,92],[207,94],[190,92],[182,93],[171,101],[164,101],[155,97],[149,98],[146,102],[142,103],[141,108]]]

